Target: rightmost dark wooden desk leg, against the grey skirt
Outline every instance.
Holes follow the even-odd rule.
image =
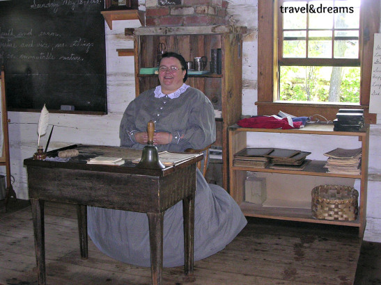
[[[185,275],[192,275],[194,271],[194,194],[182,199],[182,215],[184,217],[184,270]]]

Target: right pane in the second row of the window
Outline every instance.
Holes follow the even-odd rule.
[[[359,58],[359,31],[335,31],[334,58]]]

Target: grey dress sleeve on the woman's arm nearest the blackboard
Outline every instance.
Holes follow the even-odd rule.
[[[120,146],[122,147],[132,147],[137,140],[135,139],[135,133],[137,133],[137,128],[135,126],[135,109],[136,102],[132,100],[130,104],[125,109],[122,120],[119,127],[119,138]]]

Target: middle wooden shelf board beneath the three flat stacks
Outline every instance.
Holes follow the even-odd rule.
[[[271,173],[283,173],[283,174],[361,179],[361,174],[353,175],[353,174],[339,174],[339,173],[327,172],[327,168],[324,168],[325,163],[327,163],[327,161],[311,161],[309,165],[306,165],[306,168],[304,168],[304,170],[280,170],[280,169],[272,169],[272,168],[250,168],[250,167],[243,167],[243,166],[233,166],[232,169],[242,170],[242,171],[254,171],[254,172],[271,172]]]

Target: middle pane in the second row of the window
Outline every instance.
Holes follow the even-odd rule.
[[[332,58],[332,31],[309,31],[309,58]]]

